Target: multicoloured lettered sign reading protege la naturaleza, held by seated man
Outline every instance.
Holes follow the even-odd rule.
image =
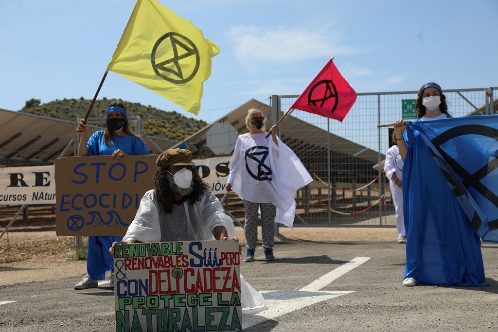
[[[115,247],[116,331],[242,329],[239,243]]]

